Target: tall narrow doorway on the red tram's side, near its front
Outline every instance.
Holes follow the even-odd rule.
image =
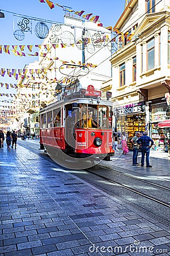
[[[75,148],[75,113],[73,113],[73,105],[66,105],[66,119],[65,119],[65,140],[67,148]]]

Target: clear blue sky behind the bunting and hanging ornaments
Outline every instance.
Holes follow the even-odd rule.
[[[51,0],[52,1],[52,0]],[[104,27],[112,26],[116,24],[117,20],[120,18],[121,14],[125,8],[125,0],[86,0],[86,1],[78,1],[78,0],[54,0],[53,3],[58,3],[62,6],[67,6],[68,9],[73,9],[74,11],[84,11],[84,14],[92,13],[92,16],[99,15],[100,22],[103,23]],[[1,0],[0,1],[0,10],[5,14],[5,18],[0,18],[0,45],[36,45],[41,44],[43,39],[37,38],[35,35],[35,26],[40,19],[44,19],[46,21],[54,21],[58,23],[63,23],[63,16],[65,12],[61,7],[54,5],[53,9],[50,9],[46,3],[41,3],[40,0]],[[33,17],[35,19],[32,20],[32,34],[31,32],[25,32],[24,40],[17,40],[14,36],[14,31],[19,30],[16,22],[20,18],[14,14],[19,14],[20,16],[27,15],[29,17]],[[46,23],[50,27],[50,23]],[[18,49],[19,50],[19,49]],[[34,48],[32,53],[38,51]],[[31,53],[26,49],[24,52]],[[36,56],[30,57],[20,57],[15,56],[12,52],[10,55],[5,53],[2,50],[2,54],[0,54],[0,69],[1,68],[11,68],[11,69],[23,69],[25,64],[32,63],[34,60],[38,60]],[[102,61],[102,60],[101,60]],[[10,78],[8,75],[2,77],[0,75],[0,85],[1,82],[3,84],[16,84],[16,80],[14,77]],[[0,86],[0,93],[15,93],[14,89],[5,89]],[[5,105],[5,103],[1,102],[1,100],[8,100],[6,97],[0,97],[0,109],[1,105]]]

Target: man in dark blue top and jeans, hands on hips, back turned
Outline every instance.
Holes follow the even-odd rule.
[[[141,167],[144,166],[145,154],[146,154],[146,167],[150,166],[150,148],[154,144],[154,141],[148,136],[148,132],[144,131],[143,136],[137,140],[138,144],[141,144],[141,152],[142,152],[142,159],[141,159]]]

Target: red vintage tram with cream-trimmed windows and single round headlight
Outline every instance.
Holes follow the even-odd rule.
[[[101,91],[88,85],[40,110],[40,147],[62,166],[84,168],[84,160],[114,155],[112,102],[100,98]]]

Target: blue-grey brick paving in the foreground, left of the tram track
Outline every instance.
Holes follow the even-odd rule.
[[[1,149],[0,180],[0,255],[170,255],[169,227],[27,148]]]

